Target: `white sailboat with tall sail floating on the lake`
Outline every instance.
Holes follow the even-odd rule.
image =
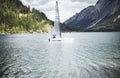
[[[63,40],[73,40],[72,38],[62,38],[61,31],[60,31],[60,17],[59,17],[59,9],[58,9],[58,1],[56,1],[56,8],[55,8],[55,22],[52,37],[49,38],[49,41],[63,41]]]

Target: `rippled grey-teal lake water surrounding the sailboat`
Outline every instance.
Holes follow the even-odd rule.
[[[0,35],[0,78],[120,78],[120,33]]]

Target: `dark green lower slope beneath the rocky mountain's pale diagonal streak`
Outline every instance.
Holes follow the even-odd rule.
[[[85,31],[120,31],[120,13],[107,17]]]

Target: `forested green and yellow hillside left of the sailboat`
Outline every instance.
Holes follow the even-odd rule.
[[[20,0],[0,0],[0,33],[48,32],[53,22]]]

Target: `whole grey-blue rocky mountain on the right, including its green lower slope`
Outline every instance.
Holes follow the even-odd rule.
[[[80,31],[120,31],[120,0],[99,0],[64,22]]]

